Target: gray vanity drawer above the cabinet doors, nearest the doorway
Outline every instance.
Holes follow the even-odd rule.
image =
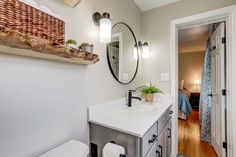
[[[171,107],[168,108],[161,116],[161,118],[158,120],[158,135],[161,134],[162,130],[164,129],[165,125],[169,121],[172,115]]]

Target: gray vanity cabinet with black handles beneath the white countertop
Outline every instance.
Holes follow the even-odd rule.
[[[171,114],[167,109],[142,137],[90,123],[91,157],[102,157],[111,141],[124,146],[127,157],[171,157]]]

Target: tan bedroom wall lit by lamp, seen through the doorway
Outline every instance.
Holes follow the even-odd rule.
[[[179,80],[184,79],[184,87],[189,92],[200,89],[199,86],[193,85],[193,81],[201,81],[204,56],[205,52],[179,53]]]

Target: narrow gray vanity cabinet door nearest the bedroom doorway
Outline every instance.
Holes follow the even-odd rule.
[[[172,119],[169,120],[168,124],[167,124],[167,128],[165,130],[166,132],[166,136],[165,136],[165,140],[166,140],[166,157],[170,157],[171,156],[171,149],[172,149]]]

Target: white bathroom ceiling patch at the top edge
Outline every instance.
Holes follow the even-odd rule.
[[[151,10],[180,0],[134,0],[142,11]]]

